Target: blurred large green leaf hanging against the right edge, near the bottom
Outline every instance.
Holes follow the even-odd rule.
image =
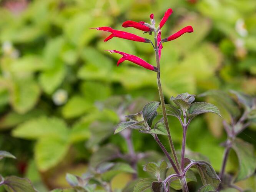
[[[253,175],[256,169],[256,158],[253,145],[242,139],[236,138],[232,144],[232,148],[236,152],[239,160],[239,172],[235,180],[235,182],[238,182]]]

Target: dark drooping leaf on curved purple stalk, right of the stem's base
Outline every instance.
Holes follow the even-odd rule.
[[[206,161],[195,161],[195,162],[196,162],[196,168],[198,169],[203,185],[210,184],[210,185],[213,185],[213,187],[216,189],[219,186],[219,183],[221,182],[221,180],[219,179],[218,175],[216,174],[211,164],[209,164]]]

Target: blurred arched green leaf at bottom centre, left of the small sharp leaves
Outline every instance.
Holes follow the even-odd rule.
[[[111,179],[113,179],[113,177],[115,177],[117,174],[120,174],[122,172],[136,173],[136,171],[129,164],[116,163],[113,167],[111,167],[110,170],[101,174],[101,178],[106,182],[110,182]]]

